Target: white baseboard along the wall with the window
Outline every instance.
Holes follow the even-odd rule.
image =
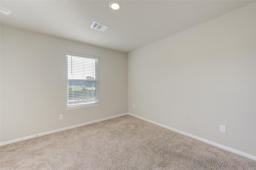
[[[120,117],[120,116],[127,115],[127,114],[128,113],[123,113],[123,114],[120,114],[120,115],[114,115],[114,116],[106,117],[106,118],[103,118],[103,119],[98,119],[98,120],[94,120],[94,121],[90,121],[90,122],[86,122],[86,123],[81,123],[81,124],[78,124],[78,125],[63,127],[63,128],[55,129],[55,130],[52,130],[52,131],[47,131],[47,132],[38,133],[38,134],[35,134],[35,135],[30,135],[30,136],[27,136],[27,137],[22,137],[22,138],[13,139],[13,140],[10,140],[10,141],[1,142],[0,146],[8,145],[8,144],[19,142],[19,141],[24,141],[24,140],[27,140],[27,139],[32,139],[32,138],[43,136],[43,135],[48,135],[48,134],[51,134],[51,133],[65,131],[65,130],[72,129],[72,128],[75,128],[75,127],[89,125],[89,124],[92,124],[92,123],[96,123],[96,122],[99,122],[99,121],[104,121],[104,120],[112,119],[112,118],[115,118],[115,117]]]

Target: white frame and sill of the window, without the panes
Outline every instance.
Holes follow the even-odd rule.
[[[96,98],[95,98],[95,102],[94,103],[89,103],[89,104],[78,104],[78,105],[68,105],[68,82],[69,81],[76,81],[76,79],[68,79],[68,56],[74,56],[74,57],[84,57],[84,58],[88,58],[88,59],[96,59],[96,76],[95,76],[95,80],[86,80],[86,79],[79,79],[77,81],[82,81],[82,82],[95,82],[96,86],[95,86],[95,92],[96,92]],[[66,66],[67,66],[67,95],[66,95],[66,110],[69,109],[78,109],[78,108],[83,108],[83,107],[91,107],[91,106],[99,106],[99,99],[98,99],[98,60],[100,59],[100,57],[95,57],[95,56],[90,56],[90,55],[83,55],[83,54],[77,54],[77,53],[70,53],[70,52],[66,52]]]

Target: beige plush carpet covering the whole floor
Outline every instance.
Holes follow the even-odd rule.
[[[256,170],[256,161],[130,115],[4,145],[1,170]]]

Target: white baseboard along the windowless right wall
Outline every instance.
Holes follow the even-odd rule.
[[[180,134],[182,134],[182,135],[186,135],[186,136],[188,136],[188,137],[192,137],[192,138],[194,138],[194,139],[197,139],[197,140],[202,141],[202,142],[204,142],[204,143],[208,143],[208,144],[213,145],[213,146],[215,146],[215,147],[218,147],[218,148],[221,148],[221,149],[224,149],[224,150],[228,150],[228,151],[230,151],[230,152],[236,153],[236,154],[241,155],[241,156],[244,156],[244,157],[246,157],[246,158],[250,158],[250,159],[252,159],[252,160],[256,160],[256,156],[251,155],[251,154],[248,154],[248,153],[245,153],[245,152],[242,152],[242,151],[240,151],[240,150],[236,150],[236,149],[233,149],[233,148],[230,148],[230,147],[226,147],[226,146],[224,146],[224,145],[220,145],[220,144],[218,144],[218,143],[215,143],[215,142],[209,141],[209,140],[207,140],[207,139],[204,139],[204,138],[201,138],[201,137],[192,135],[192,134],[190,134],[190,133],[186,133],[186,132],[180,131],[180,130],[178,130],[178,129],[174,129],[174,128],[169,127],[169,126],[166,126],[166,125],[162,125],[162,124],[160,124],[160,123],[156,123],[156,122],[154,122],[154,121],[145,119],[145,118],[143,118],[143,117],[134,115],[134,114],[132,114],[132,113],[128,113],[128,115],[137,117],[137,118],[142,119],[142,120],[144,120],[144,121],[148,121],[148,122],[150,122],[150,123],[153,123],[153,124],[155,124],[155,125],[164,127],[164,128],[169,129],[169,130],[171,130],[171,131],[175,131],[175,132],[177,132],[177,133],[180,133]]]

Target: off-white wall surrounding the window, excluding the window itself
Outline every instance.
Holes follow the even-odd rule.
[[[66,51],[100,57],[100,106],[65,109]],[[1,25],[1,142],[121,113],[126,53]]]

